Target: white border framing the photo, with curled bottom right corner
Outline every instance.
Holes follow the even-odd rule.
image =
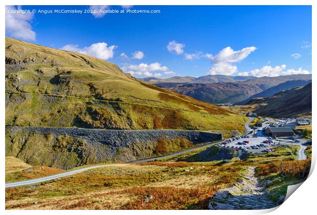
[[[5,5],[312,5],[312,59],[317,59],[315,56],[316,53],[316,38],[317,38],[317,32],[316,32],[316,24],[317,24],[317,1],[313,0],[256,0],[256,1],[251,1],[251,0],[213,0],[213,1],[204,1],[204,0],[196,0],[196,1],[190,1],[190,0],[152,0],[152,1],[145,1],[145,0],[134,0],[134,1],[124,1],[124,0],[109,0],[109,1],[98,1],[98,0],[91,0],[91,1],[84,1],[84,0],[77,0],[77,1],[66,1],[66,0],[47,0],[47,1],[39,1],[39,0],[28,0],[28,1],[6,1],[2,2],[2,16],[1,16],[1,21],[2,21],[2,28],[1,28],[1,34],[3,35],[1,41],[2,46],[5,47]],[[1,59],[2,59],[2,67],[5,67],[5,50],[2,49],[1,51]],[[315,68],[316,68],[316,60],[312,60],[312,77],[313,80],[315,79]],[[0,113],[1,116],[1,143],[5,145],[5,98],[4,98],[4,92],[5,92],[5,76],[4,76],[4,69],[2,69],[3,74],[0,76],[1,80],[1,110],[2,112]],[[313,81],[312,85],[313,89],[313,96],[312,96],[312,105],[313,105],[313,112],[314,112],[314,107],[316,106],[316,99],[314,98],[314,92],[315,92],[315,84]],[[314,112],[315,113],[315,112]],[[314,121],[314,117],[313,117]],[[315,124],[313,123],[313,136],[315,137],[316,132],[315,132]],[[316,158],[316,149],[317,147],[313,147],[313,166],[315,165],[315,158]],[[1,176],[4,176],[4,169],[5,169],[5,151],[2,150],[2,159],[0,159],[1,163]],[[291,195],[277,210],[274,210],[271,212],[271,214],[312,214],[315,213],[314,208],[315,208],[315,199],[314,196],[316,195],[316,183],[317,183],[317,176],[316,173],[312,173],[311,171],[311,176],[307,181],[305,181],[300,188],[295,192],[295,194]],[[0,186],[2,188],[2,195],[0,195],[1,198],[1,206],[2,209],[5,209],[5,177],[2,177]],[[262,211],[257,211],[257,210],[251,210],[251,211],[243,211],[243,210],[235,210],[235,211],[209,211],[209,210],[200,210],[200,214],[258,214],[258,213],[266,213],[271,210],[262,210]],[[50,214],[55,214],[56,212],[60,214],[70,214],[73,213],[74,211],[72,210],[59,210],[59,211],[54,211],[54,210],[24,210],[24,211],[16,211],[16,210],[5,210],[5,213],[8,214],[20,214],[20,213],[25,213],[25,214],[42,214],[44,213],[50,213]],[[74,213],[76,214],[86,214],[86,213],[111,213],[111,214],[148,214],[149,212],[152,214],[161,214],[162,211],[156,210],[156,211],[146,211],[146,210],[141,210],[141,211],[124,211],[124,210],[117,210],[117,211],[76,211]],[[172,213],[182,213],[182,214],[190,214],[193,212],[197,211],[163,211],[166,214],[172,214]]]

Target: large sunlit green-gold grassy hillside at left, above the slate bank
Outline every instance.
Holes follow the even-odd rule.
[[[6,124],[243,130],[246,120],[92,56],[6,38],[6,59]]]

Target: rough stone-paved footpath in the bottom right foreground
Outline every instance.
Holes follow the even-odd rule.
[[[255,167],[247,168],[244,179],[220,189],[209,202],[211,210],[268,209],[278,206],[255,177]]]

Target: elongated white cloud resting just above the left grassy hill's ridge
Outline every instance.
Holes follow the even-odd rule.
[[[92,55],[94,57],[107,60],[109,58],[114,57],[114,49],[117,46],[109,46],[105,42],[97,42],[96,44],[92,44],[89,47],[79,48],[78,45],[68,44],[62,47],[62,50],[78,52],[81,54]]]

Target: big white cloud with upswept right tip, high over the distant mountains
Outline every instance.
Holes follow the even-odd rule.
[[[234,51],[231,47],[222,49],[216,56],[211,58],[212,63],[219,62],[239,62],[254,52],[256,47],[246,47],[239,51]]]

